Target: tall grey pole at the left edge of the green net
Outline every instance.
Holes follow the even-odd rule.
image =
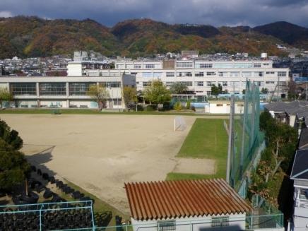
[[[226,172],[226,182],[230,184],[230,174],[231,174],[231,158],[233,152],[233,121],[234,121],[234,108],[235,108],[235,97],[231,95],[230,102],[230,119],[229,119],[229,142],[227,146],[227,172]]]

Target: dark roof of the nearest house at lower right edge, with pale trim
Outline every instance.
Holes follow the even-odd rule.
[[[308,179],[308,149],[296,151],[290,178]]]

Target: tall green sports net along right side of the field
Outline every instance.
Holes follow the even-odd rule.
[[[233,117],[230,185],[237,191],[247,188],[245,176],[256,159],[263,134],[259,130],[260,96],[259,86],[247,81],[244,95],[244,114]],[[241,193],[240,193],[241,194]],[[246,193],[242,193],[246,194]],[[243,197],[245,195],[242,195]]]

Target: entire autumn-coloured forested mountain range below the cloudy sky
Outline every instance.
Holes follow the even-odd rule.
[[[150,19],[131,19],[107,28],[90,19],[47,20],[16,16],[0,18],[0,59],[15,55],[46,57],[73,54],[74,50],[80,49],[126,57],[180,52],[183,49],[198,49],[201,54],[247,52],[259,55],[268,52],[269,55],[284,55],[276,44],[308,47],[305,40],[307,29],[290,23],[287,25],[278,22],[256,28],[215,28],[211,25],[170,25]]]

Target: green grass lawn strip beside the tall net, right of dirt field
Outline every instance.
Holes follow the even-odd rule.
[[[223,119],[197,118],[177,157],[179,158],[206,158],[216,160],[216,173],[202,174],[176,174],[170,173],[167,179],[205,179],[225,178],[227,165],[228,136],[223,126]]]

